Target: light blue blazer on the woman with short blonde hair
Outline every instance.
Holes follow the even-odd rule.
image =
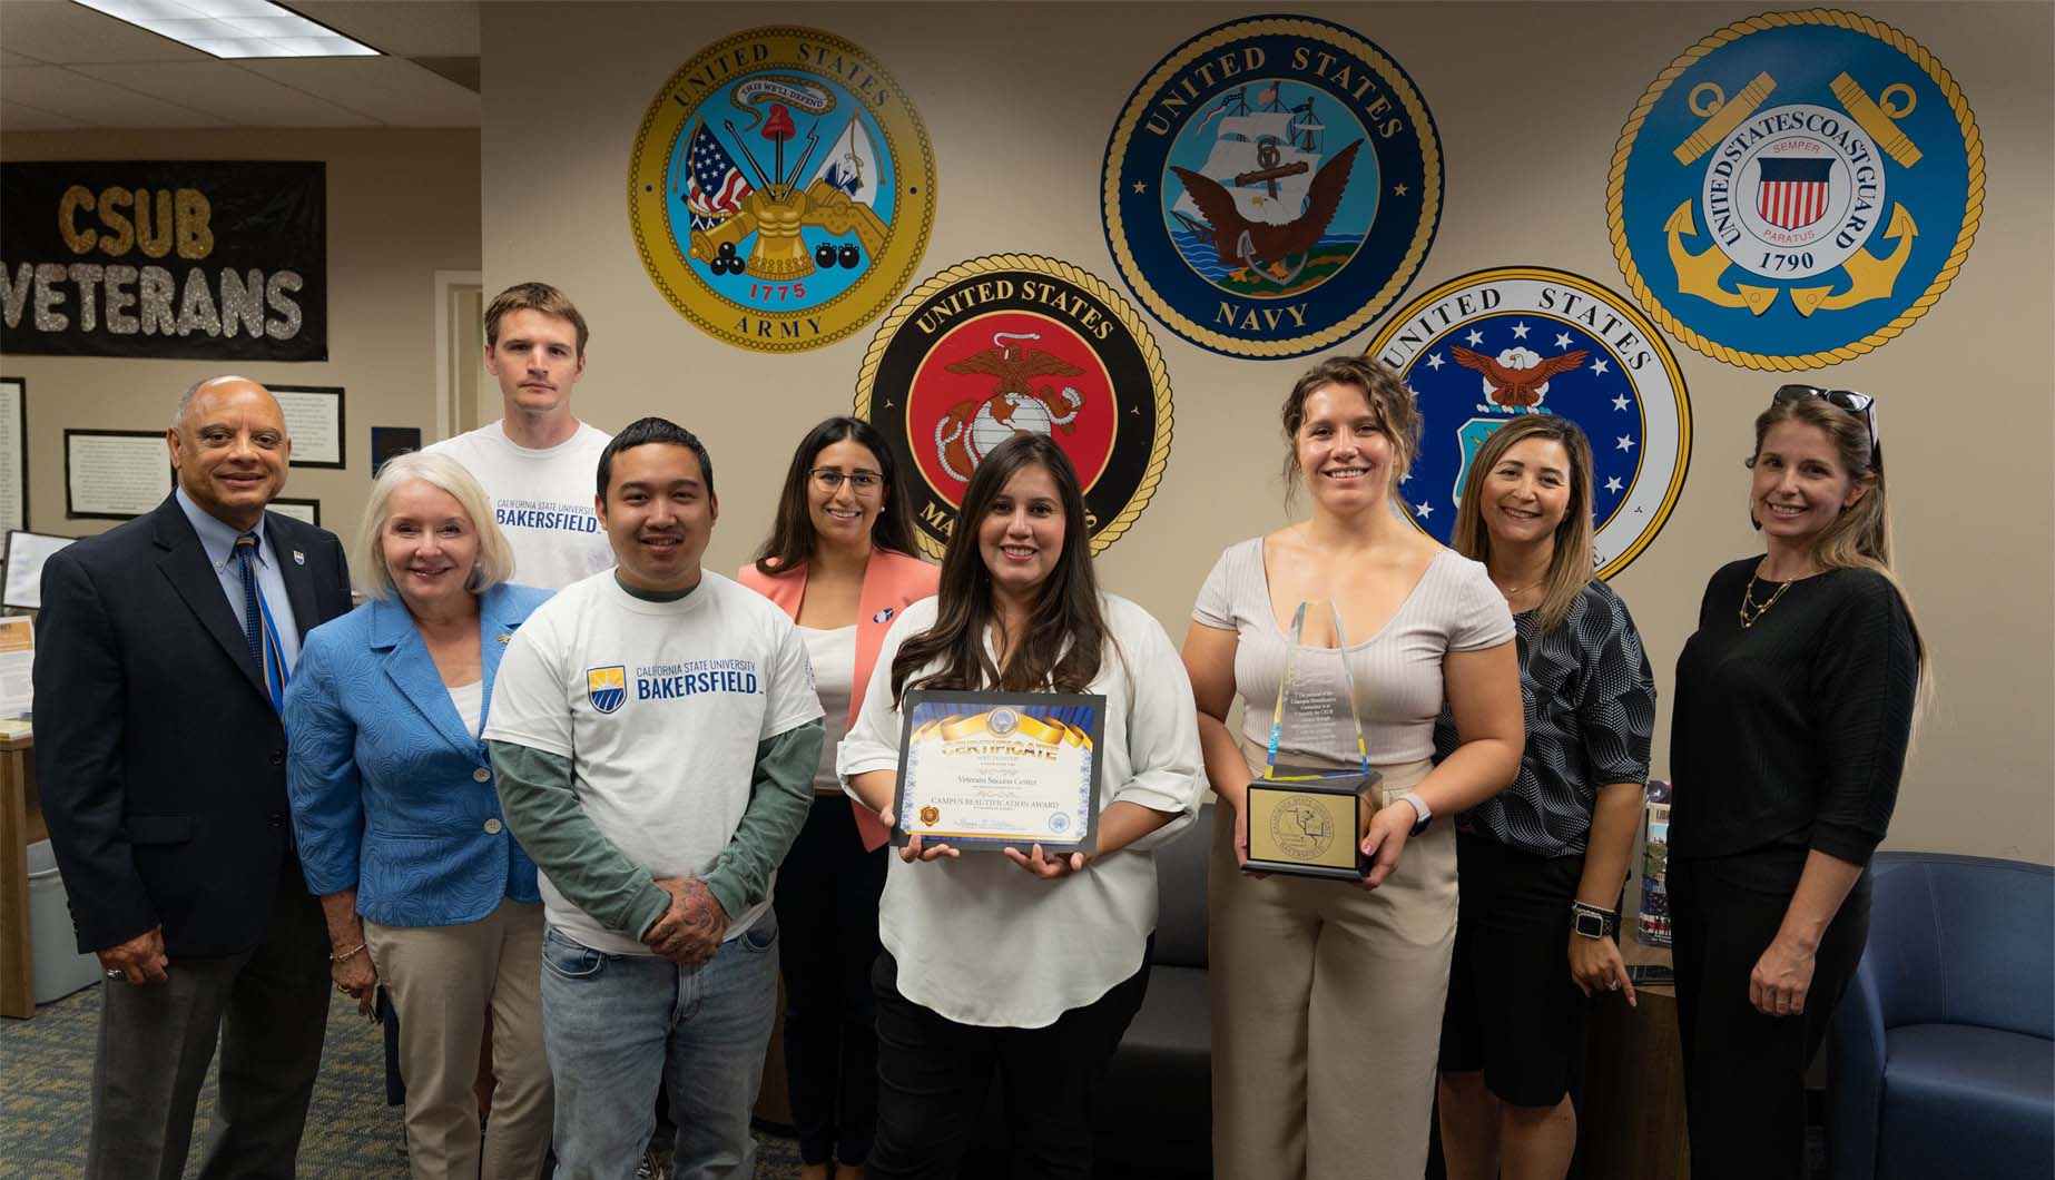
[[[479,596],[485,705],[514,631],[549,590]],[[499,814],[493,763],[471,736],[401,598],[366,602],[306,633],[286,689],[286,791],[306,888],[356,886],[382,925],[477,921],[532,902],[534,861]]]

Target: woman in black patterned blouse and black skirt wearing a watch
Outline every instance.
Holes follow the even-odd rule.
[[[1484,561],[1512,609],[1527,746],[1512,787],[1455,820],[1441,1141],[1449,1180],[1560,1180],[1586,997],[1634,1003],[1613,937],[1656,707],[1634,619],[1593,578],[1584,432],[1554,413],[1492,432],[1463,483],[1455,551]],[[1459,740],[1443,711],[1436,757]]]

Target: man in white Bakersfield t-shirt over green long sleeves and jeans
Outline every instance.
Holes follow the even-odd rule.
[[[682,1176],[750,1176],[777,1003],[773,872],[822,713],[769,598],[701,569],[707,450],[662,417],[598,460],[614,569],[514,635],[487,711],[508,826],[543,870],[557,1176],[635,1172],[668,1083]]]

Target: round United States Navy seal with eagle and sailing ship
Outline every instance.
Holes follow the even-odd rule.
[[[1309,16],[1178,45],[1120,111],[1101,175],[1120,278],[1171,331],[1229,356],[1354,335],[1420,269],[1441,140],[1406,70]]]

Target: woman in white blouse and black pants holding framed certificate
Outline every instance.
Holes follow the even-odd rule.
[[[892,625],[843,740],[849,791],[914,833],[894,837],[880,915],[871,1180],[954,1176],[995,1071],[1013,1174],[1091,1176],[1091,1096],[1149,981],[1149,849],[1202,783],[1178,652],[1099,592],[1087,541],[1054,440],[993,448],[941,592]]]

